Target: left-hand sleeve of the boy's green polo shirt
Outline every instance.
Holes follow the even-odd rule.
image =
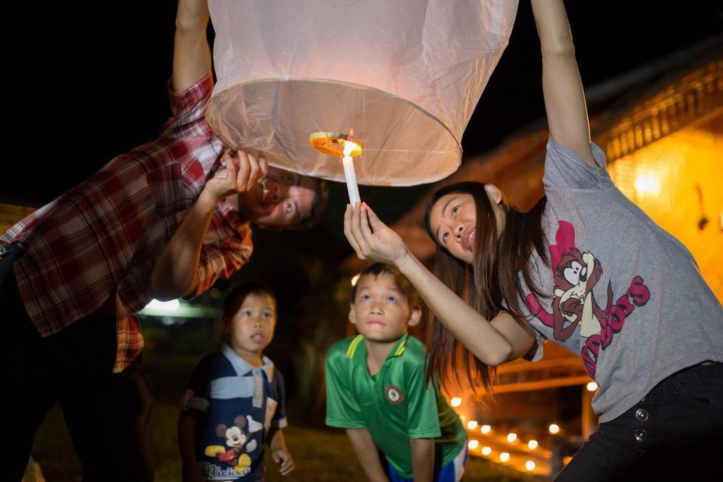
[[[349,373],[344,373],[347,360],[345,353],[329,350],[325,362],[326,376],[326,424],[341,429],[363,429],[367,426],[361,416],[349,384]]]

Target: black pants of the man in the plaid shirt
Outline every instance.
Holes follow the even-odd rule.
[[[40,337],[20,301],[12,263],[0,259],[5,422],[1,431],[9,481],[20,481],[35,432],[57,402],[82,464],[83,481],[152,481],[152,397],[140,360],[112,373],[116,319],[95,311]]]

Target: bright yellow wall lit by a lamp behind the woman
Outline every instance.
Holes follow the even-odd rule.
[[[723,110],[615,160],[608,171],[625,196],[688,247],[723,301]]]

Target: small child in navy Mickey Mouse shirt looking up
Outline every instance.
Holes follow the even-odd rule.
[[[294,461],[281,431],[283,377],[262,355],[276,324],[273,293],[259,282],[236,285],[220,324],[228,344],[202,358],[181,402],[183,480],[262,481],[265,442],[281,475],[288,475]]]

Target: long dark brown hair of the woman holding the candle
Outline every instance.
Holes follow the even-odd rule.
[[[440,244],[429,224],[432,207],[446,194],[471,194],[474,199],[474,265],[453,257]],[[529,264],[533,249],[545,264],[549,264],[547,242],[542,227],[546,202],[547,198],[542,197],[531,210],[525,212],[511,205],[502,194],[505,226],[500,236],[497,236],[497,218],[484,184],[464,181],[439,189],[432,195],[424,219],[427,233],[437,245],[435,275],[483,317],[491,320],[500,311],[507,311],[521,327],[532,333],[529,316],[523,312],[521,306],[521,300],[526,293],[523,292],[520,275],[534,296],[546,297],[534,282]],[[462,380],[460,371],[471,387],[479,387],[480,382],[484,390],[492,387],[495,369],[466,350],[439,319],[432,315],[432,322],[429,324],[427,380],[437,376],[443,385],[448,385],[449,382],[459,384]]]

